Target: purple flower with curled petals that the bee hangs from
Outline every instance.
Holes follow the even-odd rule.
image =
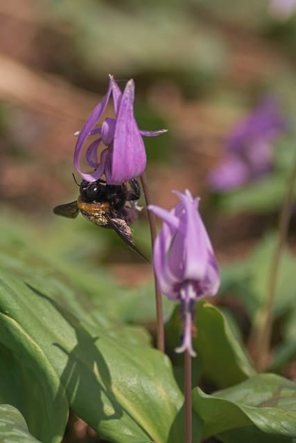
[[[115,118],[105,118],[101,127],[94,129],[103,115],[112,95]],[[74,165],[83,180],[92,182],[105,174],[108,185],[121,185],[123,181],[139,177],[146,167],[146,152],[141,136],[158,136],[156,132],[140,131],[134,120],[134,80],[129,80],[123,93],[112,75],[106,95],[94,108],[79,133],[74,153]],[[89,136],[98,137],[87,147],[85,160],[94,168],[88,174],[80,170],[82,147]],[[106,146],[98,161],[98,147]]]

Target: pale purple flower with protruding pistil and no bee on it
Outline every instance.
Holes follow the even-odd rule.
[[[162,230],[153,247],[153,266],[160,290],[170,300],[181,303],[183,341],[176,352],[195,352],[191,343],[191,325],[195,302],[202,296],[214,296],[220,284],[218,264],[207,231],[198,212],[199,199],[189,190],[171,211],[158,206],[148,209],[161,218]]]

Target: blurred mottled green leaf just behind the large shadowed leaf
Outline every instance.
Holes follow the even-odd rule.
[[[1,237],[0,268],[18,275],[30,287],[56,300],[71,314],[79,316],[89,331],[95,333],[96,327],[101,326],[109,329],[113,336],[125,338],[131,343],[150,344],[150,334],[146,329],[123,325],[118,308],[114,309],[116,300],[109,295],[114,293],[119,300],[121,297],[123,300],[134,300],[135,291],[129,293],[120,288],[102,270],[96,271],[94,275],[83,268],[64,265],[64,270],[67,271],[64,275],[58,271],[56,264],[54,266],[42,255],[35,253],[19,237],[14,237],[11,233],[4,237],[6,239]]]

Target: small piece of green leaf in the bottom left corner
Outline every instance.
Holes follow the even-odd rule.
[[[1,443],[40,443],[28,432],[24,417],[9,404],[0,405]]]

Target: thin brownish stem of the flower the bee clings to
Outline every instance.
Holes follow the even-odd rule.
[[[146,206],[148,206],[152,204],[152,201],[150,197],[150,192],[145,172],[141,174],[141,183],[145,196]],[[148,210],[148,221],[150,226],[151,242],[153,246],[156,237],[156,224],[155,224],[155,215],[150,210]],[[155,283],[155,301],[156,301],[156,318],[157,318],[157,349],[159,351],[164,352],[164,320],[162,315],[162,294],[160,293],[159,290],[156,273],[155,271],[153,272],[154,272],[154,283]]]

